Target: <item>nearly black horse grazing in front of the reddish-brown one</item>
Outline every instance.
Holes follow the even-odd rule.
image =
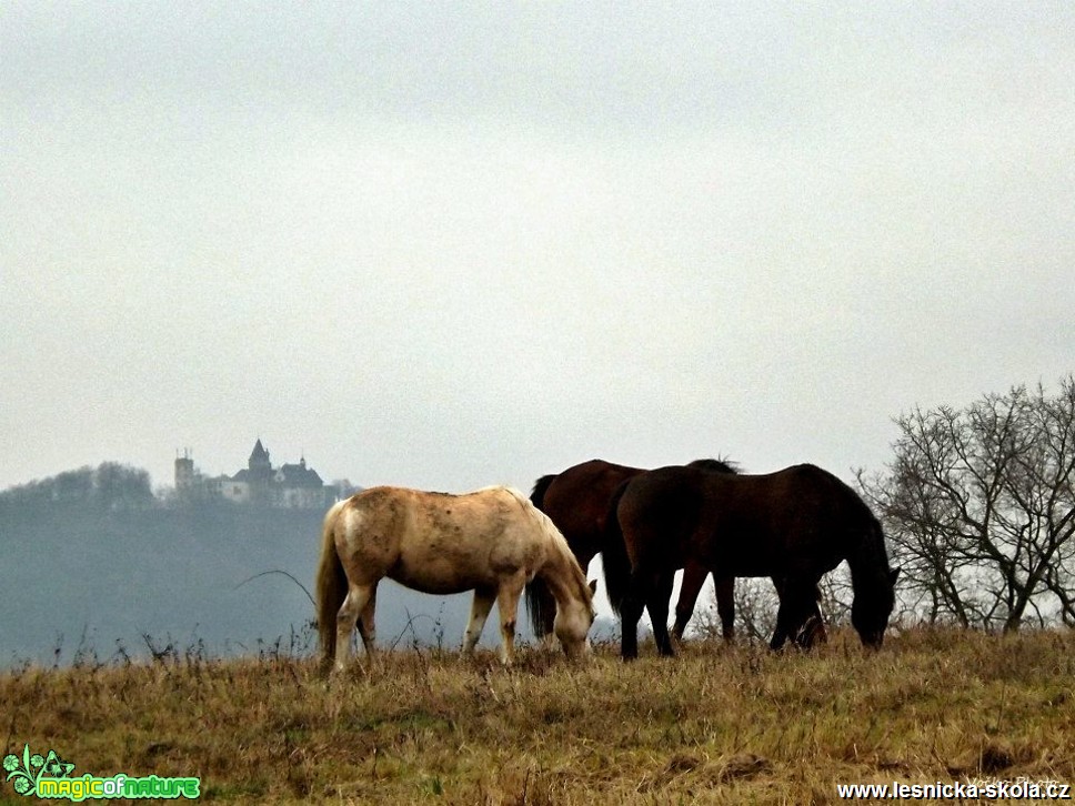
[[[675,571],[687,563],[717,576],[773,577],[781,604],[771,646],[780,648],[810,631],[818,581],[846,560],[852,624],[863,644],[883,641],[898,570],[888,567],[881,525],[862,498],[818,467],[766,475],[661,467],[621,484],[606,525],[605,584],[621,602],[624,659],[639,654],[643,608],[657,651],[673,654],[669,598]]]

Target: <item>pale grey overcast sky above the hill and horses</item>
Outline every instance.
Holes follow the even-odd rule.
[[[1075,370],[1075,6],[0,4],[0,487],[881,470]]]

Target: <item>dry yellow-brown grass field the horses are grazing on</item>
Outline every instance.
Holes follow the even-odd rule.
[[[826,804],[836,784],[1075,783],[1075,633],[836,631],[808,654],[652,644],[630,665],[524,648],[310,657],[162,653],[0,676],[4,754],[73,775],[199,776],[202,799],[340,804]],[[0,798],[26,802],[10,784]]]

